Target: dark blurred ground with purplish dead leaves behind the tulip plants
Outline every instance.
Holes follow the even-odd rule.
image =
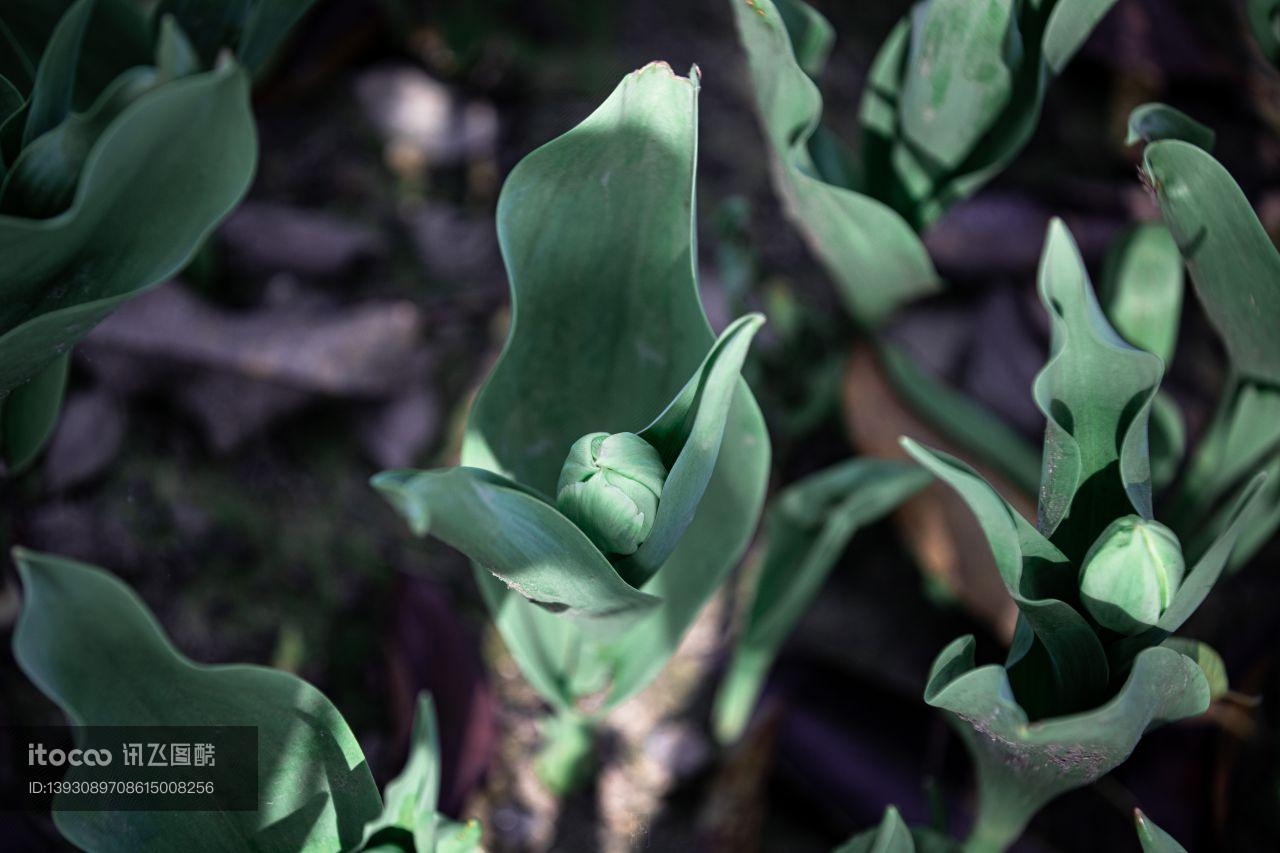
[[[838,33],[827,117],[855,138],[867,68],[909,4],[815,5]],[[536,698],[486,629],[465,560],[410,539],[367,487],[383,467],[456,459],[506,330],[493,227],[503,177],[652,59],[703,72],[703,297],[717,329],[746,309],[769,316],[748,375],[774,484],[851,450],[883,452],[904,432],[927,437],[782,219],[726,0],[317,0],[259,74],[250,199],[180,280],[79,347],[44,462],[3,485],[4,533],[116,571],[195,660],[306,676],[379,781],[403,761],[412,697],[431,690],[442,808],[479,816],[492,849],[644,838],[652,849],[822,850],[888,803],[910,824],[964,824],[966,760],[920,690],[960,633],[995,656],[1009,608],[942,502],[859,533],[736,748],[718,753],[707,722],[737,625],[730,590],[612,724],[598,789],[558,803],[527,766]],[[1280,234],[1280,76],[1245,4],[1120,0],[1051,88],[1029,147],[928,233],[951,287],[890,325],[927,370],[1033,442],[1046,224],[1066,220],[1097,280],[1108,242],[1157,215],[1140,150],[1124,145],[1130,109],[1152,100],[1216,131],[1216,156]],[[1192,442],[1224,365],[1189,300],[1166,389]],[[1134,849],[1137,803],[1192,850],[1280,847],[1277,556],[1272,542],[1188,625],[1222,652],[1238,695],[1155,733],[1111,777],[1050,806],[1015,849]],[[18,590],[4,580],[8,633]],[[0,724],[17,720],[59,716],[5,657]],[[0,816],[0,834],[13,849],[60,843],[47,821],[17,815]]]

